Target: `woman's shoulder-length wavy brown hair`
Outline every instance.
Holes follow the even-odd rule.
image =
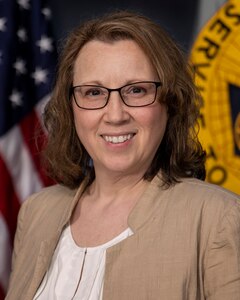
[[[162,171],[167,186],[181,177],[205,178],[205,152],[197,138],[197,118],[201,99],[193,83],[191,69],[182,51],[159,25],[145,16],[114,12],[85,22],[69,35],[60,56],[52,98],[44,112],[49,138],[45,157],[51,176],[76,188],[95,177],[91,158],[78,139],[69,89],[73,68],[81,48],[91,40],[106,42],[134,40],[149,57],[162,87],[159,101],[168,111],[164,138],[144,175],[151,180]]]

